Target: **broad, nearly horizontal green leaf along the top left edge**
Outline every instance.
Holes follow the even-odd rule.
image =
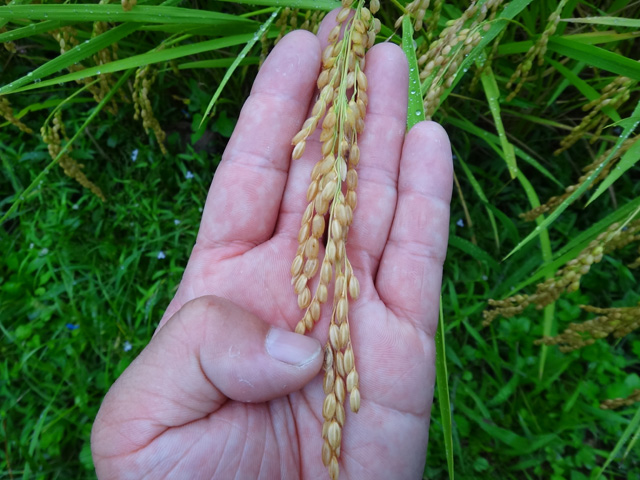
[[[0,18],[13,20],[63,20],[69,22],[138,22],[210,25],[221,23],[252,23],[252,20],[209,10],[136,5],[128,12],[121,5],[17,5],[0,8]]]

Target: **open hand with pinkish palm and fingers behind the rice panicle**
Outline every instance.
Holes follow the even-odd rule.
[[[260,70],[176,296],[94,423],[100,479],[329,478],[320,452],[331,297],[293,353],[274,358],[265,338],[294,345],[295,334],[278,329],[292,332],[301,318],[289,268],[320,144],[316,132],[291,162],[291,138],[317,94],[335,15],[318,37],[287,35]],[[345,479],[416,479],[425,463],[452,164],[439,125],[405,134],[407,70],[396,45],[367,54],[369,105],[347,243],[361,287],[349,321],[362,404],[358,414],[346,407]],[[292,365],[301,352],[304,362]]]

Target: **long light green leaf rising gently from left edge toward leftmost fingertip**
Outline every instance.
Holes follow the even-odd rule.
[[[125,25],[121,25],[121,27],[131,28],[132,25],[131,24],[125,24]],[[119,28],[119,27],[117,27],[117,28]],[[133,28],[135,29],[135,25],[133,26]],[[110,30],[110,32],[111,31],[113,31],[113,30]],[[109,32],[107,32],[107,33],[109,33]],[[106,35],[106,34],[103,34],[103,35]],[[99,38],[99,37],[96,37],[96,38]],[[188,55],[195,55],[197,53],[208,52],[208,51],[211,51],[211,50],[218,50],[220,48],[230,47],[230,46],[233,46],[233,45],[239,45],[239,44],[242,44],[242,43],[246,43],[251,38],[252,38],[251,34],[244,34],[244,35],[234,35],[232,37],[216,38],[216,39],[213,39],[213,40],[206,40],[204,42],[194,43],[194,44],[191,44],[191,45],[183,45],[181,47],[168,48],[166,50],[147,52],[147,53],[143,53],[141,55],[135,55],[133,57],[123,58],[122,60],[116,60],[115,62],[110,62],[110,63],[106,63],[104,65],[99,65],[97,67],[85,68],[84,70],[80,70],[79,72],[74,72],[74,73],[69,73],[69,74],[66,74],[66,75],[61,75],[60,77],[55,77],[55,78],[52,78],[51,80],[46,80],[46,81],[43,81],[43,82],[40,82],[40,83],[37,83],[37,84],[34,84],[34,85],[28,85],[28,86],[20,88],[20,89],[16,89],[15,88],[15,83],[16,82],[14,82],[13,84],[8,85],[7,87],[11,87],[13,85],[13,89],[10,90],[9,93],[14,93],[14,92],[22,92],[22,91],[26,91],[26,90],[33,90],[34,88],[48,87],[50,85],[58,85],[60,83],[65,83],[65,82],[70,82],[70,81],[73,81],[73,80],[79,80],[79,79],[82,79],[82,78],[92,77],[94,75],[100,75],[101,73],[119,72],[121,70],[128,70],[130,68],[137,68],[137,67],[141,67],[143,65],[149,65],[149,64],[152,64],[152,63],[166,62],[167,60],[173,60],[174,58],[181,58],[181,57],[186,57]],[[78,48],[78,47],[76,47],[76,48]],[[70,50],[67,53],[70,53],[72,51],[73,50]],[[58,57],[58,59],[62,58],[62,57],[64,57],[64,55]],[[54,60],[52,60],[50,62],[47,62],[45,65],[43,65],[40,68],[47,67],[47,71],[48,71],[50,69],[49,64],[51,62],[54,62],[55,60],[57,60],[57,59],[54,59]],[[39,70],[39,69],[37,69],[37,70]],[[23,78],[25,78],[25,77],[23,77]],[[20,80],[22,80],[22,79],[20,79]],[[27,78],[27,80],[29,80],[29,79]],[[0,88],[0,94],[4,93],[4,89],[7,88],[7,87]]]

